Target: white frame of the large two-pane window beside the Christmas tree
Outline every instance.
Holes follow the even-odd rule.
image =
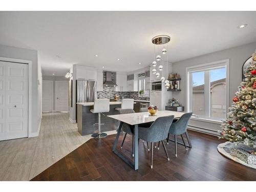
[[[186,112],[191,112],[192,111],[192,90],[193,90],[193,79],[192,79],[192,73],[193,72],[200,72],[204,71],[204,83],[205,83],[205,91],[208,94],[205,95],[205,115],[206,117],[195,117],[193,119],[201,119],[205,121],[220,121],[217,119],[212,119],[210,118],[210,74],[209,70],[212,69],[220,69],[220,68],[226,68],[226,114],[228,113],[228,106],[229,106],[229,59],[224,59],[224,60],[219,60],[219,61],[214,61],[214,62],[208,62],[204,63],[202,65],[197,65],[197,66],[191,66],[186,68]],[[207,70],[207,71],[205,71]]]

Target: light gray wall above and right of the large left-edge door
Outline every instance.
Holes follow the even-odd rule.
[[[32,61],[32,122],[31,122],[31,134],[36,135],[38,133],[38,125],[40,119],[38,118],[38,113],[40,111],[38,101],[38,57],[36,50],[23,49],[10,47],[5,45],[0,45],[0,57],[14,58],[14,59],[23,59]],[[39,103],[39,104],[38,104]]]

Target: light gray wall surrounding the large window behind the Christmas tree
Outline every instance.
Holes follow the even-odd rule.
[[[196,47],[195,47],[196,49]],[[232,98],[234,97],[234,93],[238,90],[238,86],[242,81],[242,66],[244,62],[254,53],[256,49],[256,42],[252,42],[247,45],[234,47],[214,53],[209,53],[206,55],[178,61],[173,63],[173,72],[177,72],[181,75],[180,81],[180,92],[173,92],[173,97],[179,99],[180,103],[185,106],[186,100],[186,68],[191,66],[200,65],[203,63],[214,62],[218,60],[230,59],[229,60],[229,105],[232,103]],[[184,53],[186,54],[186,53]],[[186,110],[186,106],[185,106]],[[211,129],[214,132],[210,132],[212,134],[217,134],[216,131],[220,129],[219,124],[205,123],[199,121],[190,120],[189,125],[198,126],[203,129]],[[206,131],[207,132],[207,131]]]

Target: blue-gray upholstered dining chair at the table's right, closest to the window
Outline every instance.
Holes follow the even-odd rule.
[[[175,141],[175,156],[177,157],[177,135],[181,136],[181,139],[184,143],[184,146],[187,151],[187,146],[186,143],[183,139],[182,134],[186,134],[188,143],[190,143],[189,138],[188,138],[188,133],[187,133],[187,125],[190,117],[192,116],[192,113],[185,113],[183,114],[176,122],[173,122],[172,125],[170,126],[168,137],[167,137],[167,144],[169,142],[169,134],[174,135],[174,141]],[[159,143],[158,143],[159,145]]]

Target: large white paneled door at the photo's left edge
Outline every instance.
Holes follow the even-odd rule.
[[[0,61],[0,140],[28,137],[28,65]]]

